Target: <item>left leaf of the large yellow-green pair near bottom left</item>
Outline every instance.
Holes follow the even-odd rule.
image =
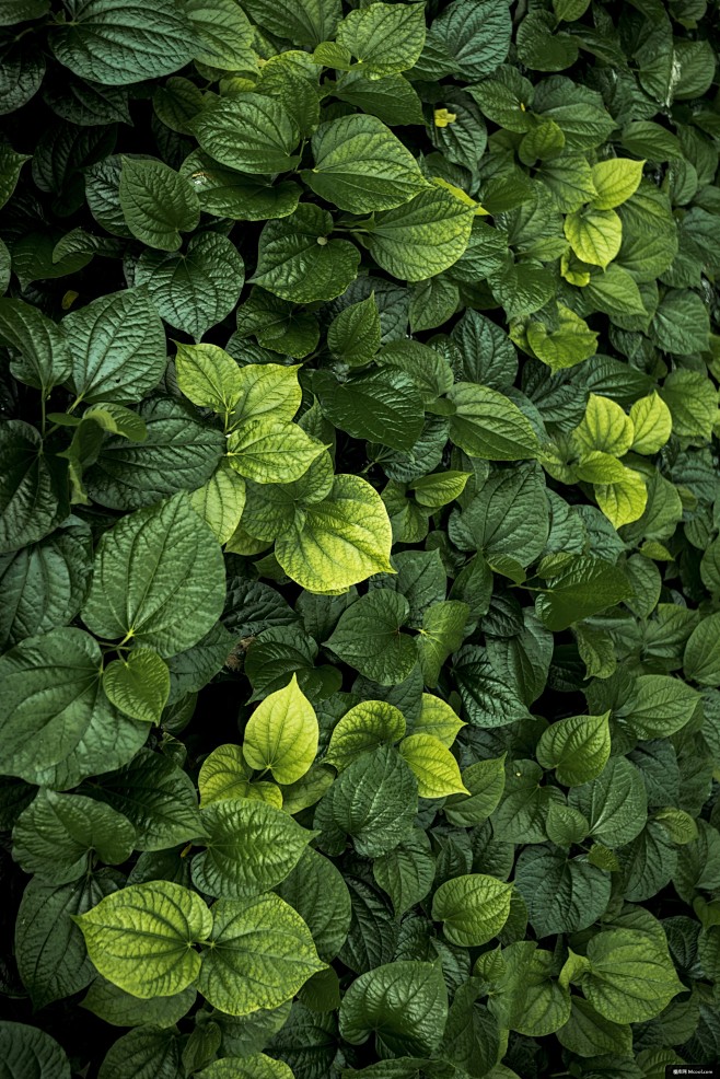
[[[171,881],[120,889],[74,920],[100,973],[146,1000],[197,978],[201,960],[193,945],[212,930],[200,896]]]

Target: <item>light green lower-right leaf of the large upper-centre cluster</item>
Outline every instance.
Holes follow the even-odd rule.
[[[473,208],[437,188],[376,213],[365,245],[388,274],[423,281],[457,262],[467,247],[472,227]]]

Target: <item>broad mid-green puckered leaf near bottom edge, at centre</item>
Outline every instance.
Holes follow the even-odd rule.
[[[448,1018],[448,990],[437,963],[395,962],[361,974],[340,1007],[340,1033],[361,1045],[374,1032],[385,1056],[429,1056]]]

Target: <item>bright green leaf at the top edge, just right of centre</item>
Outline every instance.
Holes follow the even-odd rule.
[[[372,74],[406,71],[425,44],[422,11],[411,3],[371,3],[346,15],[337,43]]]

